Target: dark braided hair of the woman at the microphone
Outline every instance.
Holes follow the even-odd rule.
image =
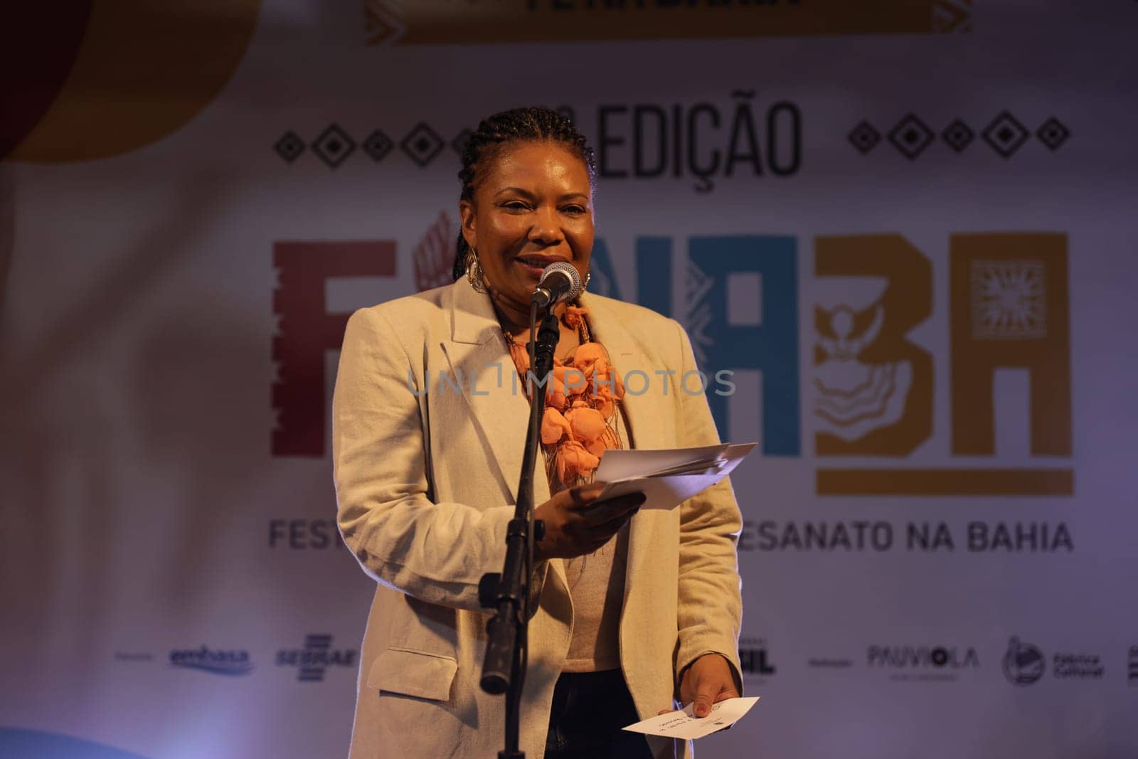
[[[505,146],[517,141],[549,141],[563,146],[585,163],[589,184],[595,189],[596,163],[593,159],[593,148],[571,121],[549,108],[513,108],[484,118],[478,124],[478,130],[467,140],[462,149],[462,170],[459,172],[459,181],[462,182],[460,200],[473,203],[475,184],[486,176],[489,165]],[[469,254],[470,246],[460,231],[452,272],[454,279],[465,273]]]

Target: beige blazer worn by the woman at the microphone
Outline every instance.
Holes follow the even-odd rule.
[[[635,447],[718,443],[704,396],[681,388],[695,369],[681,325],[595,295],[580,303],[628,378],[624,406]],[[645,382],[628,377],[634,370],[650,380],[638,395]],[[333,401],[338,519],[344,542],[378,583],[352,759],[495,757],[503,748],[504,698],[478,685],[489,619],[478,580],[502,570],[513,515],[529,409],[516,377],[489,298],[464,280],[348,321]],[[686,385],[695,391],[699,381],[693,374]],[[541,465],[534,490],[535,504],[549,498]],[[741,527],[726,480],[677,509],[633,517],[620,662],[642,718],[670,707],[676,673],[709,651],[727,657],[742,692]],[[562,561],[542,562],[536,574],[520,728],[531,759],[544,753],[574,619]],[[687,743],[650,745],[657,757],[691,756]]]

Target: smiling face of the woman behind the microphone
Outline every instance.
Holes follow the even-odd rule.
[[[584,280],[593,250],[593,192],[585,162],[556,142],[506,145],[459,204],[462,234],[500,305],[528,313],[542,270],[568,261]]]

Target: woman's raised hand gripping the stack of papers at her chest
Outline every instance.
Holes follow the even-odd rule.
[[[597,501],[604,482],[591,482],[555,496],[534,510],[545,522],[545,537],[534,544],[534,558],[572,559],[593,553],[617,534],[644,503],[643,493]]]

